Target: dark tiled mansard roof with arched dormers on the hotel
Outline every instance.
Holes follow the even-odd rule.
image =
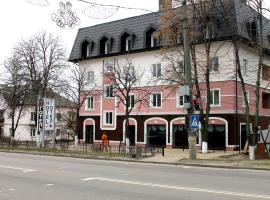
[[[227,12],[229,12],[229,14],[227,13],[227,15],[230,16],[228,20],[229,24],[221,22],[221,29],[219,31],[220,33],[217,36],[219,38],[217,39],[228,39],[232,36],[233,33],[238,33],[242,37],[249,40],[250,36],[248,35],[246,21],[251,21],[252,18],[254,18],[254,10],[252,10],[248,5],[242,3],[243,0],[224,0],[224,2],[227,4],[227,6],[229,6],[229,9],[227,10]],[[85,40],[88,40],[89,42],[94,42],[94,48],[91,57],[99,57],[99,40],[103,36],[113,38],[113,46],[110,54],[116,55],[120,53],[120,37],[124,32],[129,32],[136,35],[136,40],[132,49],[134,52],[146,50],[145,31],[151,26],[158,30],[160,15],[160,12],[156,12],[109,23],[99,24],[91,27],[81,28],[78,31],[69,60],[77,61],[81,59],[81,44]],[[220,17],[221,16],[222,15],[220,15]],[[263,21],[265,37],[264,44],[266,44],[266,48],[269,49],[269,39],[267,38],[267,36],[270,35],[270,22],[266,18],[264,18]]]

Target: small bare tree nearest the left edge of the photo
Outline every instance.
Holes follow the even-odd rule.
[[[12,144],[19,121],[23,115],[23,109],[26,106],[29,88],[25,82],[23,66],[16,54],[7,60],[5,69],[6,85],[2,88],[2,92],[6,104],[5,112],[8,118],[11,119],[10,144]]]

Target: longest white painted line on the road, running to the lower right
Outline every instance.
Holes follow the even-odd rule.
[[[146,183],[146,182],[126,181],[126,180],[119,180],[119,179],[103,178],[103,177],[90,177],[90,178],[81,179],[81,181],[92,181],[92,180],[115,182],[115,183],[124,183],[124,184],[148,186],[148,187],[157,187],[157,188],[165,188],[165,189],[174,189],[174,190],[185,190],[185,191],[193,191],[193,192],[204,192],[204,193],[213,193],[213,194],[221,194],[221,195],[250,197],[250,198],[258,198],[258,199],[270,199],[270,196],[268,196],[268,195],[230,192],[230,191],[212,190],[212,189],[204,189],[204,188],[193,188],[193,187],[183,187],[183,186],[174,186],[174,185],[162,185],[162,184],[154,184],[154,183]]]

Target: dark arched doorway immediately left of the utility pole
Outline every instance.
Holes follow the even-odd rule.
[[[173,136],[175,148],[188,147],[188,132],[185,125],[173,125]]]

